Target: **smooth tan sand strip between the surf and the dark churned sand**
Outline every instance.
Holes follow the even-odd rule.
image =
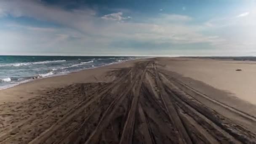
[[[112,68],[127,67],[136,61],[142,61],[143,59],[147,58],[121,61],[114,64],[107,64],[101,67],[93,67],[90,69],[70,72],[65,75],[54,75],[50,77],[29,80],[26,83],[21,83],[10,88],[1,89],[0,104],[24,101],[40,94],[41,91],[48,90],[49,88],[59,88],[65,85],[71,85],[73,83],[96,82],[98,79],[101,79],[101,77],[104,77],[106,72],[111,71]],[[109,82],[111,80],[105,80],[103,78],[101,81]]]

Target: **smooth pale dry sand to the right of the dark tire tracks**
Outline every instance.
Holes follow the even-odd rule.
[[[168,59],[166,69],[256,104],[256,61],[179,58],[174,61]]]

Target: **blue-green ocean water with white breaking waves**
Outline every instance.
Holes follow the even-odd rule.
[[[0,89],[35,78],[63,75],[138,57],[117,56],[0,56]]]

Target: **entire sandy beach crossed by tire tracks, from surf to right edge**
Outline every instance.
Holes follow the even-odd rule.
[[[255,74],[151,58],[23,83],[0,91],[0,144],[256,143]]]

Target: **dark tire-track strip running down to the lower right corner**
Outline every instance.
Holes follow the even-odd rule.
[[[164,76],[162,75],[162,77]],[[165,78],[165,80],[167,79]],[[187,108],[189,106],[190,107],[189,109],[194,109],[194,112],[199,112],[200,114],[204,115],[205,117],[207,117],[207,119],[211,120],[211,122],[218,125],[220,129],[223,129],[224,131],[229,133],[229,134],[226,133],[224,136],[227,136],[232,141],[235,141],[235,143],[239,143],[238,141],[245,142],[245,143],[256,142],[255,134],[246,130],[241,125],[238,125],[232,122],[231,120],[227,119],[226,117],[220,115],[216,111],[209,109],[208,107],[204,106],[203,104],[201,104],[191,96],[187,95],[183,91],[178,92],[178,90],[175,90],[173,86],[171,86],[170,84],[168,85],[168,83],[171,83],[170,81],[165,81],[164,83],[165,83],[165,88],[169,92],[170,96],[173,97],[173,99],[175,99],[180,104],[183,104]],[[173,89],[170,89],[170,88],[173,88]]]

